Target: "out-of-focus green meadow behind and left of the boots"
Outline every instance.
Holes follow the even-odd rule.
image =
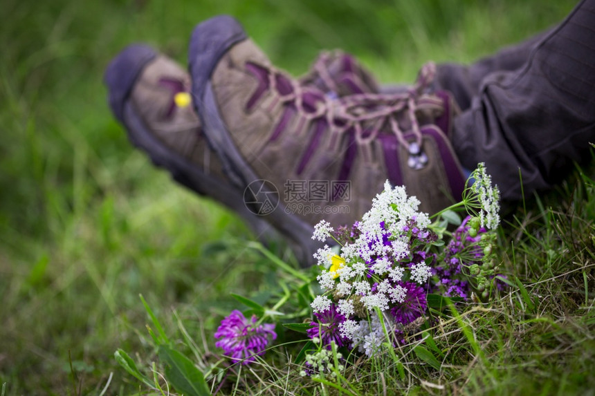
[[[574,4],[3,0],[0,386],[7,395],[98,393],[113,372],[108,393],[129,392],[134,383],[112,356],[143,343],[139,293],[157,312],[184,304],[200,315],[250,287],[250,265],[260,265],[213,249],[253,236],[216,203],[174,187],[113,120],[102,73],[127,44],[147,42],[185,64],[195,24],[228,13],[291,73],[342,48],[383,83],[411,82],[423,62],[471,62]],[[232,270],[221,276],[223,267]]]

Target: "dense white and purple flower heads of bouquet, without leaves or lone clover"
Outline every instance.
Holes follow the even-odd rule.
[[[488,298],[499,192],[483,164],[471,180],[463,200],[434,215],[433,223],[417,211],[417,198],[389,182],[351,227],[318,223],[313,238],[331,238],[339,249],[325,245],[315,254],[322,292],[311,303],[309,336],[370,357],[405,343],[425,323],[430,298]],[[452,211],[459,207],[469,214],[462,222]],[[447,231],[449,222],[458,225],[455,232]]]

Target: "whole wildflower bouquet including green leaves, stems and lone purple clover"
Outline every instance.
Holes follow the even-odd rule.
[[[143,300],[158,330],[150,333],[165,361],[165,378],[188,395],[217,393],[225,384],[237,383],[243,367],[253,375],[257,365],[270,370],[278,362],[272,363],[275,355],[266,352],[280,348],[277,359],[297,364],[297,377],[322,384],[340,379],[351,388],[342,373],[354,367],[356,358],[372,361],[390,354],[396,359],[397,349],[416,344],[420,334],[437,324],[434,314],[455,310],[463,301],[486,301],[505,284],[500,280],[508,283],[505,276],[497,276],[492,252],[500,223],[498,200],[484,164],[471,173],[461,202],[433,216],[418,211],[419,200],[408,197],[404,187],[386,182],[360,221],[337,229],[326,221],[315,226],[313,238],[327,245],[315,253],[318,266],[310,273],[293,269],[262,245],[250,244],[282,271],[273,282],[276,290],[261,303],[232,294],[248,309],[233,310],[214,332],[222,357],[206,350],[201,356],[181,328],[199,357],[193,363],[174,349]],[[267,303],[272,306],[266,308]],[[294,330],[308,339],[288,342]],[[273,346],[273,341],[280,345]],[[302,345],[297,355],[291,349],[295,344]],[[416,353],[422,349],[415,348]],[[147,379],[124,351],[118,350],[116,359],[131,375],[161,389],[157,377]],[[433,366],[439,368],[437,361]],[[228,379],[230,373],[235,380]]]

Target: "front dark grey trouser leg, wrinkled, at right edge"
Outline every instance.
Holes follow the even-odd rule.
[[[455,120],[461,164],[485,162],[504,200],[549,189],[595,142],[595,0],[583,0],[524,66],[488,75]]]

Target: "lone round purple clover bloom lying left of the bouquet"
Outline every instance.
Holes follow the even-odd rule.
[[[275,325],[263,323],[255,326],[257,317],[248,320],[238,310],[221,321],[221,326],[215,332],[216,339],[222,338],[215,343],[218,348],[223,348],[226,355],[234,361],[241,361],[248,364],[255,360],[255,355],[263,355],[268,344],[277,338],[273,331]]]

